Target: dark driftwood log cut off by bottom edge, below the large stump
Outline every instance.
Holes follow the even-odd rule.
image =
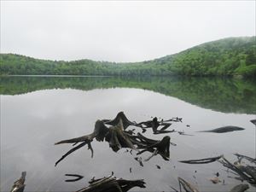
[[[79,189],[76,192],[126,192],[134,187],[145,188],[143,179],[125,180],[109,176],[99,179],[92,179],[88,187]]]

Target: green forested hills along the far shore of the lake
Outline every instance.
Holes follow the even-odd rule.
[[[224,38],[175,55],[143,62],[47,61],[0,55],[0,74],[47,75],[242,75],[256,77],[256,38]]]

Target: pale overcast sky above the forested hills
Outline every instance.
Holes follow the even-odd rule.
[[[145,61],[255,35],[255,1],[1,1],[1,53]]]

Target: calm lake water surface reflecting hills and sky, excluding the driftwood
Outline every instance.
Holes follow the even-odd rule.
[[[75,191],[88,185],[92,177],[114,172],[116,177],[143,178],[146,189],[133,191],[172,191],[177,177],[202,191],[229,191],[241,182],[218,162],[185,165],[178,160],[200,159],[234,153],[255,157],[256,84],[241,79],[116,79],[93,77],[10,77],[0,79],[1,94],[1,191],[9,191],[20,172],[26,171],[25,191]],[[54,146],[62,139],[89,134],[96,119],[113,119],[124,111],[131,120],[144,121],[182,117],[170,129],[193,136],[169,133],[173,143],[171,160],[154,156],[139,166],[135,153],[125,149],[114,153],[108,143],[92,143],[94,158],[87,147],[61,161],[55,161],[71,148]],[[187,127],[186,125],[190,125]],[[224,134],[196,132],[224,125],[244,127],[244,131]],[[137,131],[141,131],[137,129]],[[161,139],[164,135],[147,137]],[[143,154],[147,158],[150,154]],[[158,169],[156,165],[161,168]],[[130,172],[130,167],[132,172]],[[196,171],[196,172],[195,172]],[[209,178],[219,172],[222,183]],[[65,183],[66,173],[83,175],[79,182]],[[248,191],[255,191],[251,187]]]

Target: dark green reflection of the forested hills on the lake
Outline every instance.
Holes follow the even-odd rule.
[[[0,94],[35,90],[93,90],[127,87],[153,90],[201,108],[232,113],[256,113],[256,82],[217,78],[2,77]]]

